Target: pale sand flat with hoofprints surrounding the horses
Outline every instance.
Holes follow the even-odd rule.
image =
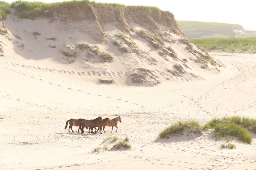
[[[256,56],[211,55],[226,67],[220,74],[156,87],[97,84],[73,65],[2,57],[0,169],[255,169],[255,134],[252,144],[233,140],[236,149],[220,149],[225,142],[212,138],[211,131],[190,140],[156,141],[163,128],[179,120],[203,125],[214,117],[256,118]],[[102,135],[64,130],[70,118],[99,115],[120,115],[117,133],[115,127],[113,134],[106,127]],[[128,136],[131,150],[92,152],[111,148],[111,142],[102,144],[110,135]]]

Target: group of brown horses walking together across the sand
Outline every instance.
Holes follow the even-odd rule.
[[[109,126],[109,127],[111,127],[112,126],[112,130],[111,130],[111,133],[113,133],[112,131],[113,131],[113,127],[116,127],[117,128],[117,122],[122,122],[121,121],[121,118],[120,118],[120,116],[119,117],[116,117],[116,118],[113,118],[113,119],[109,119],[108,117],[107,118],[105,118],[105,119],[102,119],[100,116],[99,117],[97,117],[96,119],[92,119],[92,120],[86,120],[86,119],[69,119],[69,120],[67,120],[67,122],[66,122],[66,126],[65,126],[65,129],[68,127],[68,124],[69,124],[69,129],[71,129],[72,130],[72,132],[74,132],[73,131],[73,129],[72,129],[72,127],[73,126],[79,126],[79,128],[78,128],[78,131],[77,132],[79,132],[79,129],[81,129],[81,133],[84,133],[84,127],[85,128],[89,128],[89,133],[90,133],[90,129],[91,129],[91,133],[93,134],[96,134],[97,133],[97,131],[100,129],[100,134],[102,134],[101,133],[101,129],[102,129],[102,127],[103,127],[103,130],[104,130],[104,133],[106,133],[105,132],[105,127],[106,126]],[[96,130],[96,127],[98,127],[98,129]],[[93,128],[95,128],[95,132],[93,131]],[[70,131],[69,131],[70,132]],[[116,130],[116,132],[117,132],[117,130]]]

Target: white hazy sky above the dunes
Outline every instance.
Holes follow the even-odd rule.
[[[14,0],[7,0],[12,2]],[[31,1],[31,0],[27,0]],[[37,0],[56,2],[60,0]],[[256,30],[255,0],[95,0],[96,2],[124,5],[156,6],[171,11],[176,20],[221,22],[239,24],[246,29]]]

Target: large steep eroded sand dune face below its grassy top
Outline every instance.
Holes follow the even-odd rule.
[[[0,42],[6,57],[51,58],[136,86],[203,79],[223,67],[184,37],[172,13],[159,9],[59,5],[30,19],[14,12],[0,25],[7,28]]]

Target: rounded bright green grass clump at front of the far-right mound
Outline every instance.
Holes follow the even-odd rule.
[[[221,123],[216,125],[214,137],[216,139],[223,139],[227,136],[236,137],[238,140],[251,144],[252,136],[243,127],[231,122],[231,123]]]

